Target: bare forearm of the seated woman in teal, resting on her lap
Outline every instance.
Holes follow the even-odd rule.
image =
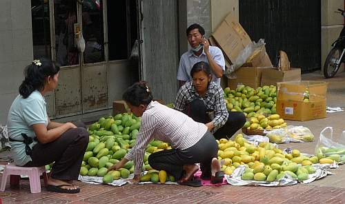
[[[52,123],[52,122],[50,122]],[[49,124],[49,123],[48,123]],[[70,130],[70,128],[77,128],[73,123],[60,123],[56,128],[48,129],[48,127],[43,123],[37,123],[32,125],[32,128],[34,130],[34,134],[37,136],[37,140],[39,143],[50,143],[52,141],[55,141],[61,134],[66,132],[67,130]]]

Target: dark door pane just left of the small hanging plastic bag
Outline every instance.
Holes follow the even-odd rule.
[[[79,63],[79,52],[74,42],[74,24],[77,23],[76,1],[54,1],[55,53],[62,66]]]

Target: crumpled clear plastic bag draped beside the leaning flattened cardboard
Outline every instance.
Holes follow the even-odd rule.
[[[265,46],[265,40],[259,39],[257,43],[253,41],[253,43],[250,43],[246,45],[246,48],[242,50],[239,53],[239,56],[237,56],[235,62],[230,65],[230,68],[227,68],[225,70],[225,74],[228,77],[228,79],[236,79],[235,71],[240,68],[244,63],[246,63],[247,59],[253,55],[253,53],[258,52],[258,50],[263,49]]]

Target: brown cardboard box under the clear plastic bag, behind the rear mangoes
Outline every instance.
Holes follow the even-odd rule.
[[[261,67],[241,67],[235,71],[236,79],[228,79],[228,86],[234,90],[238,85],[244,84],[251,88],[258,88],[261,84],[262,70],[268,68]]]

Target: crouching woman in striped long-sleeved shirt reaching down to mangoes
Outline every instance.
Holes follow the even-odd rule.
[[[193,121],[186,114],[152,101],[152,94],[145,82],[135,83],[123,95],[124,101],[135,116],[141,116],[141,127],[137,142],[119,163],[110,167],[118,170],[130,160],[135,163],[134,182],[139,182],[146,146],[152,139],[172,145],[172,150],[150,154],[148,163],[155,170],[165,170],[182,185],[201,185],[193,181],[199,167],[211,174],[211,182],[223,181],[217,161],[218,145],[206,125]]]

